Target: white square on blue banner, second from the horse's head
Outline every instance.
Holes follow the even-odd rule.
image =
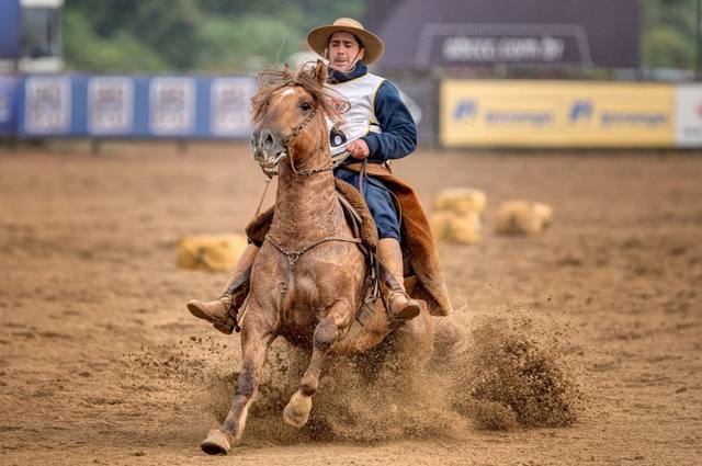
[[[195,122],[195,81],[154,78],[149,89],[150,126],[157,135],[188,135]]]

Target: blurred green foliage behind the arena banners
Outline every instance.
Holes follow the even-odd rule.
[[[641,0],[643,68],[694,69],[699,1]],[[339,16],[362,19],[365,4],[66,0],[64,60],[67,69],[82,71],[251,71],[304,50],[305,35],[314,26]]]

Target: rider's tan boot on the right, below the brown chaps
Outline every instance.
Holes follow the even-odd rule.
[[[378,241],[377,251],[383,273],[383,294],[387,310],[392,316],[401,320],[414,319],[419,316],[420,307],[416,299],[410,298],[405,291],[403,277],[403,251],[399,242],[394,238],[383,238]]]

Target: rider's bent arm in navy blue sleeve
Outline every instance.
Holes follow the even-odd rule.
[[[369,133],[362,137],[369,145],[369,160],[383,162],[414,152],[417,148],[417,126],[397,88],[389,81],[383,81],[380,86],[374,110],[383,133]]]

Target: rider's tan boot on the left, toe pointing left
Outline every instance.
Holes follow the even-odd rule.
[[[256,245],[247,246],[222,296],[207,303],[191,299],[186,305],[190,314],[213,323],[214,328],[223,333],[231,333],[237,325],[237,311],[249,294],[251,266],[258,252],[259,248]]]

